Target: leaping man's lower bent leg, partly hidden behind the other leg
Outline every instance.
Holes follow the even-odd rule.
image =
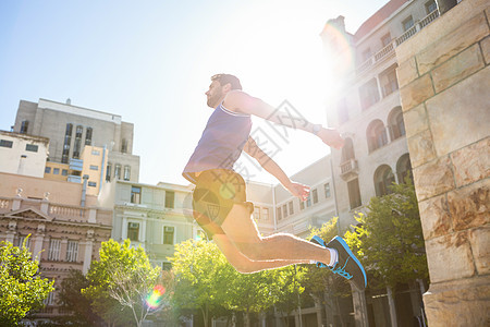
[[[242,274],[252,274],[266,269],[281,268],[294,264],[309,264],[308,261],[250,261],[231,242],[225,234],[216,234],[212,240],[226,257],[228,262]]]

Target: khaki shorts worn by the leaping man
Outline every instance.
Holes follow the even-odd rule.
[[[246,206],[252,215],[254,204],[246,202],[246,184],[232,170],[212,169],[203,171],[193,193],[193,215],[209,240],[215,234],[224,234],[221,228],[235,204]]]

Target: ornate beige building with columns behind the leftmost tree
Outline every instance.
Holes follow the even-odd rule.
[[[70,269],[86,272],[110,238],[112,210],[97,206],[84,185],[21,174],[0,173],[0,241],[27,241],[40,259],[40,272],[54,279],[56,291],[35,314],[46,320],[60,314],[57,293]],[[85,204],[85,205],[81,205]]]

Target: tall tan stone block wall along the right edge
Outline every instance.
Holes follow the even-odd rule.
[[[489,19],[488,1],[465,0],[396,49],[429,326],[490,322]]]

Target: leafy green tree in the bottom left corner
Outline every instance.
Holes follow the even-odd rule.
[[[39,276],[39,261],[30,252],[0,242],[0,325],[15,326],[30,310],[42,307],[54,281]]]

